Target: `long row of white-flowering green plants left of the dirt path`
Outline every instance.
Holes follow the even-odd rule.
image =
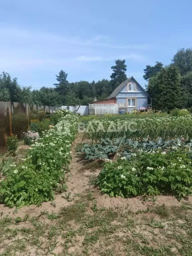
[[[77,133],[78,116],[68,111],[56,111],[49,129],[37,124],[39,136],[33,138],[28,132],[26,142],[30,145],[22,162],[10,165],[0,182],[0,202],[13,207],[40,205],[54,199],[55,191],[66,189],[65,171],[71,160],[71,143]],[[45,122],[46,123],[46,122]],[[34,126],[34,125],[32,125]],[[40,128],[39,128],[40,127]],[[34,127],[33,127],[34,129]]]

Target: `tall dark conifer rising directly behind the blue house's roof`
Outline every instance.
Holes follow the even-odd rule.
[[[111,81],[110,81],[110,93],[117,88],[120,83],[127,79],[125,71],[127,70],[127,66],[125,65],[125,60],[115,60],[115,66],[112,66],[111,69],[113,73],[111,74]]]

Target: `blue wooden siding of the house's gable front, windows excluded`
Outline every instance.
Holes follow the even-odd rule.
[[[130,80],[129,83],[135,83],[134,80]],[[147,107],[148,106],[148,95],[146,92],[136,83],[136,91],[135,92],[127,92],[127,85],[125,85],[121,91],[116,95],[117,103],[126,103],[127,104],[127,98],[136,98],[136,109],[139,109],[141,107]],[[128,111],[132,111],[133,108],[128,108]]]

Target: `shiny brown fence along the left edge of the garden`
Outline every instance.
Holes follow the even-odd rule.
[[[12,134],[21,137],[32,119],[42,120],[59,107],[39,106],[28,103],[0,102],[0,153],[7,150],[6,138]]]

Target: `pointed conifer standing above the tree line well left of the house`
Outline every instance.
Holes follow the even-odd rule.
[[[68,90],[67,75],[68,74],[65,71],[59,71],[59,75],[56,75],[56,80],[58,83],[54,84],[56,86],[55,91],[61,95],[63,104],[65,104]]]

